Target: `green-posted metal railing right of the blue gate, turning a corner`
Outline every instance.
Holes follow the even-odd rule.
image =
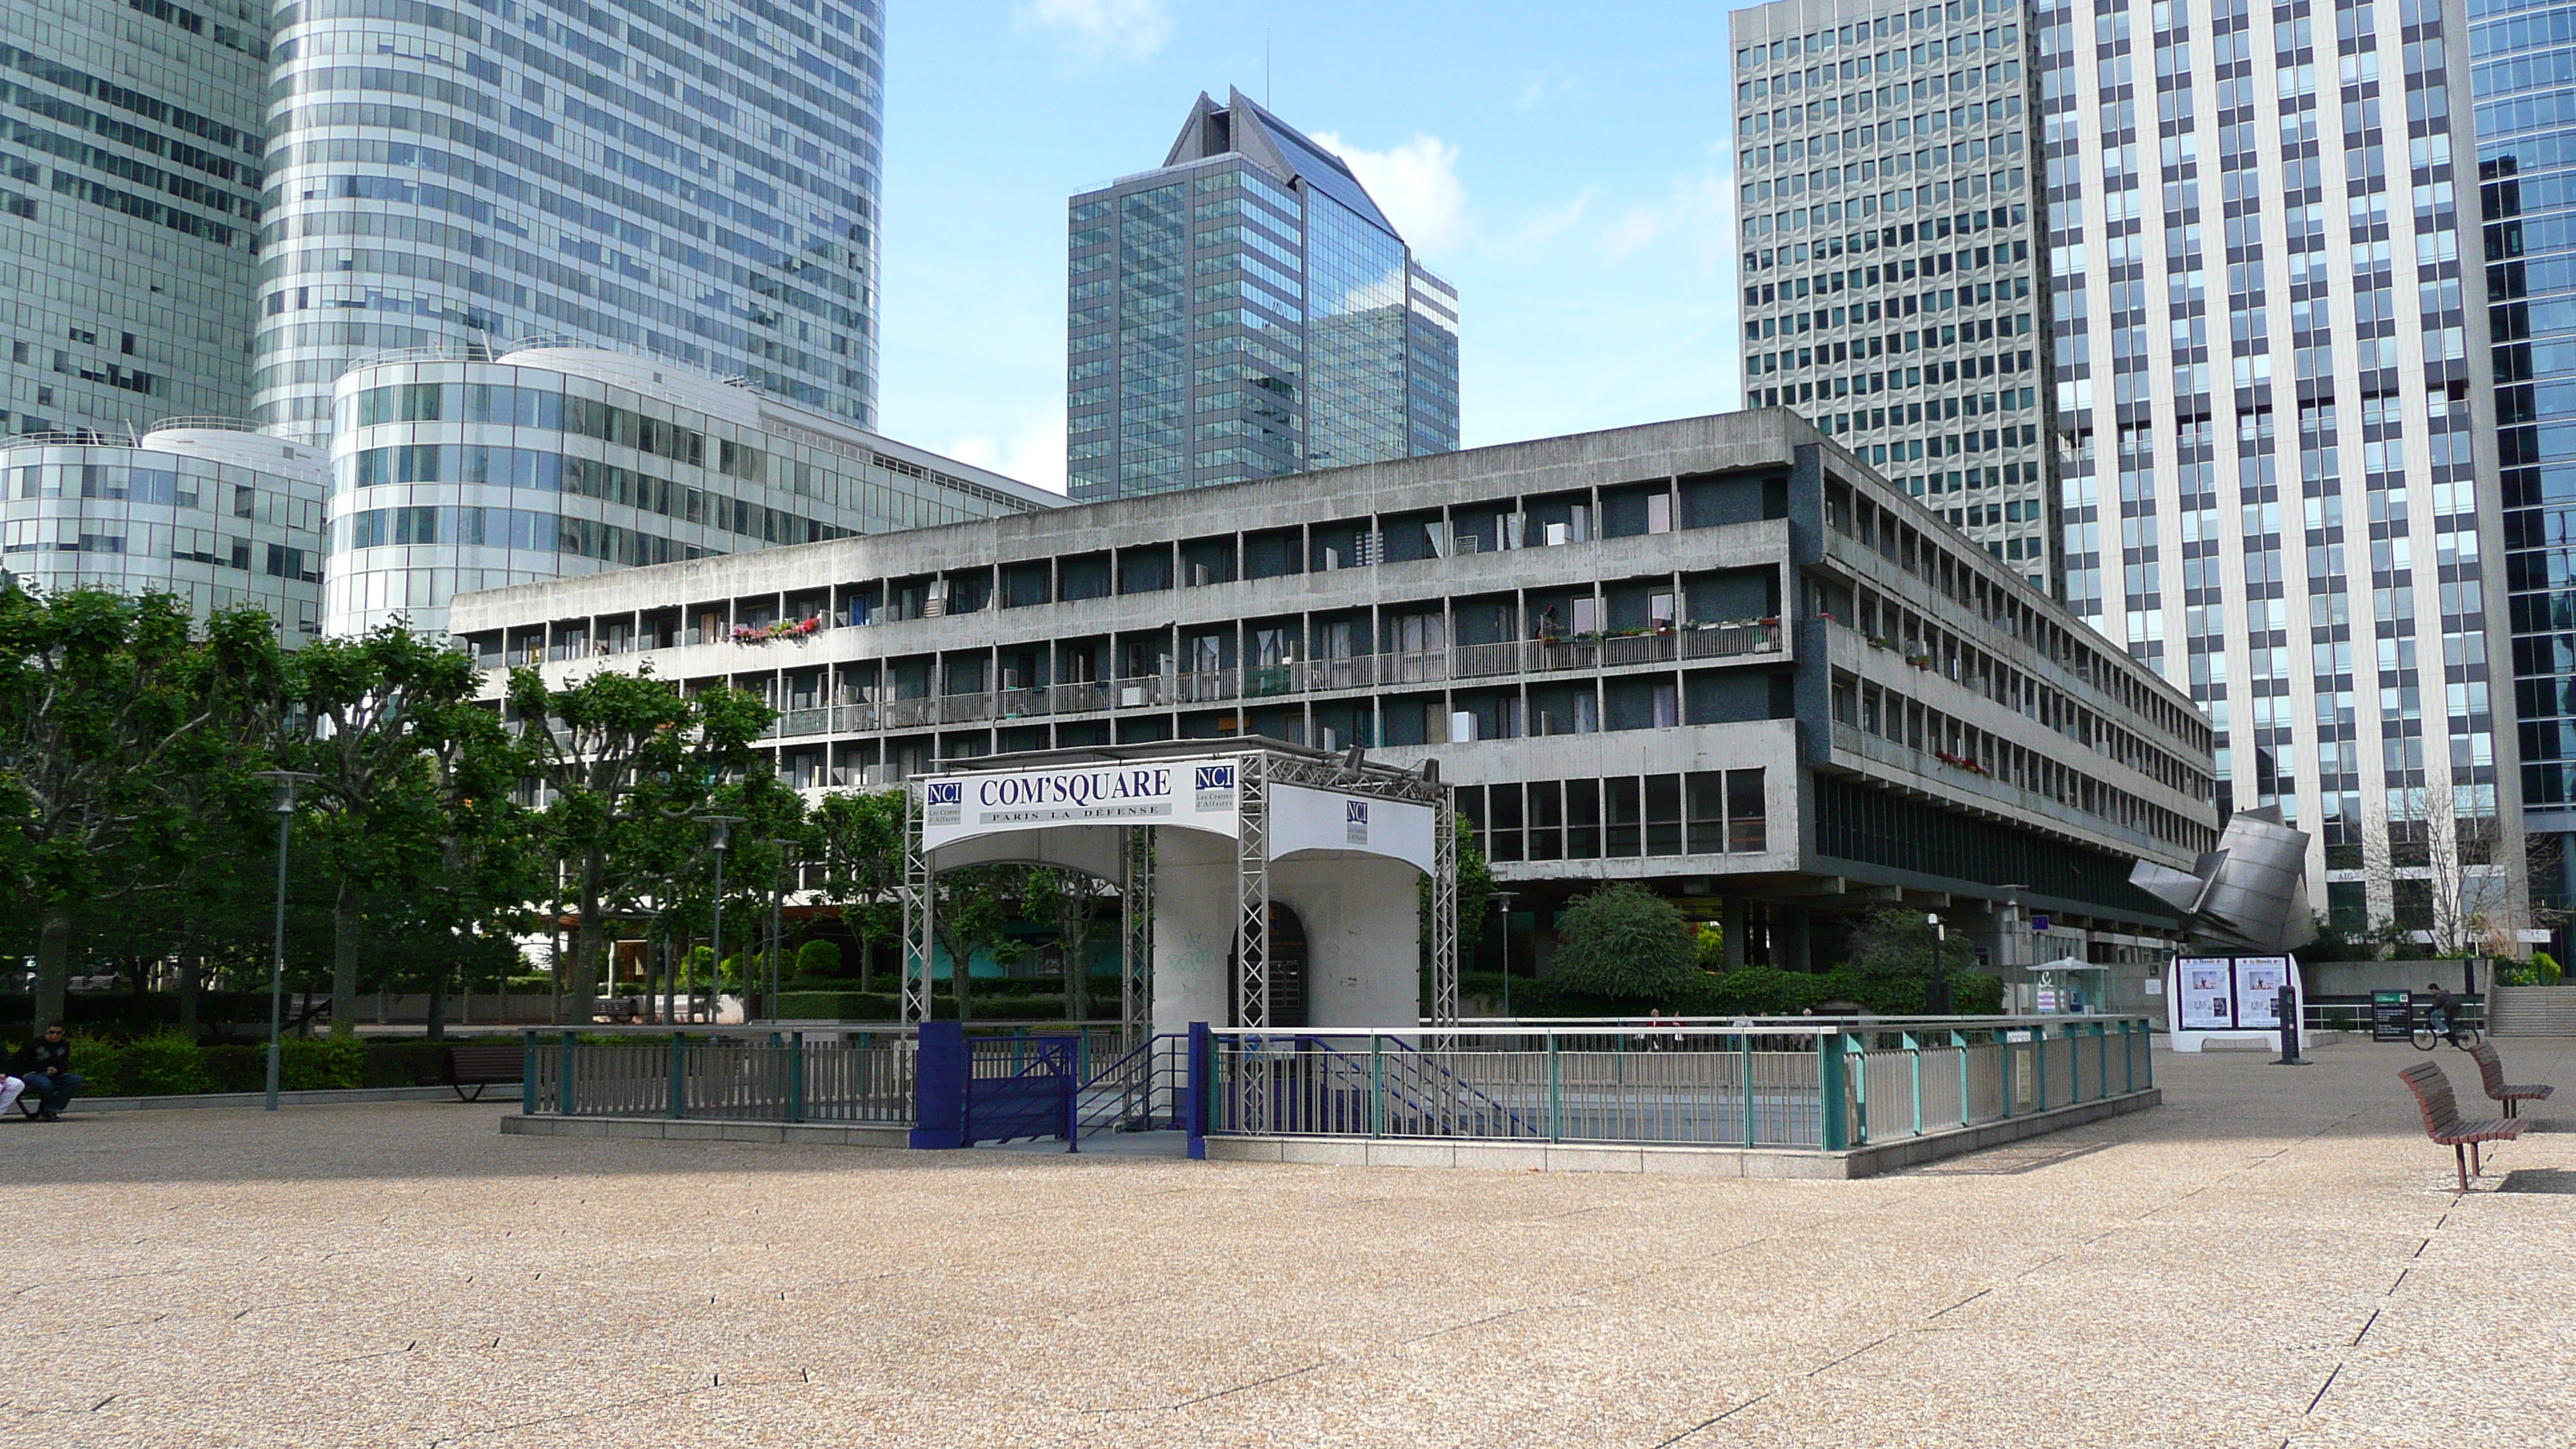
[[[1208,1132],[1850,1150],[2154,1088],[2143,1016],[1216,1031]]]

